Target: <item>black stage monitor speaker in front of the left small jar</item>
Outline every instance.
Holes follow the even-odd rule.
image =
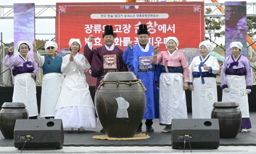
[[[26,141],[26,143],[25,143]],[[15,148],[63,148],[61,119],[19,119],[14,128]]]

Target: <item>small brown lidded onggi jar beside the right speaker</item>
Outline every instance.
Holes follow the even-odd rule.
[[[220,138],[235,138],[242,123],[242,114],[237,102],[215,102],[212,105],[211,118],[217,118],[220,126]]]

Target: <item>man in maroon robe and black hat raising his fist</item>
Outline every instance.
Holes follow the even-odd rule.
[[[124,51],[113,44],[116,33],[113,32],[111,25],[105,26],[105,32],[102,34],[105,45],[93,49],[94,36],[89,36],[89,41],[84,47],[84,56],[87,58],[91,67],[91,75],[97,78],[95,91],[99,87],[102,76],[108,72],[128,72],[127,65],[122,60]],[[105,132],[102,129],[100,132]]]

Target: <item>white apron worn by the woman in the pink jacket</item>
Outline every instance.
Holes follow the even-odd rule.
[[[172,119],[187,119],[183,74],[161,73],[159,84],[159,123],[172,124]]]

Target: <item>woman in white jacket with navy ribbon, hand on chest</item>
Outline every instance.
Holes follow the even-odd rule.
[[[218,101],[216,74],[220,65],[209,53],[213,50],[211,42],[199,44],[200,56],[189,65],[189,90],[192,90],[192,118],[211,118],[212,105]]]

